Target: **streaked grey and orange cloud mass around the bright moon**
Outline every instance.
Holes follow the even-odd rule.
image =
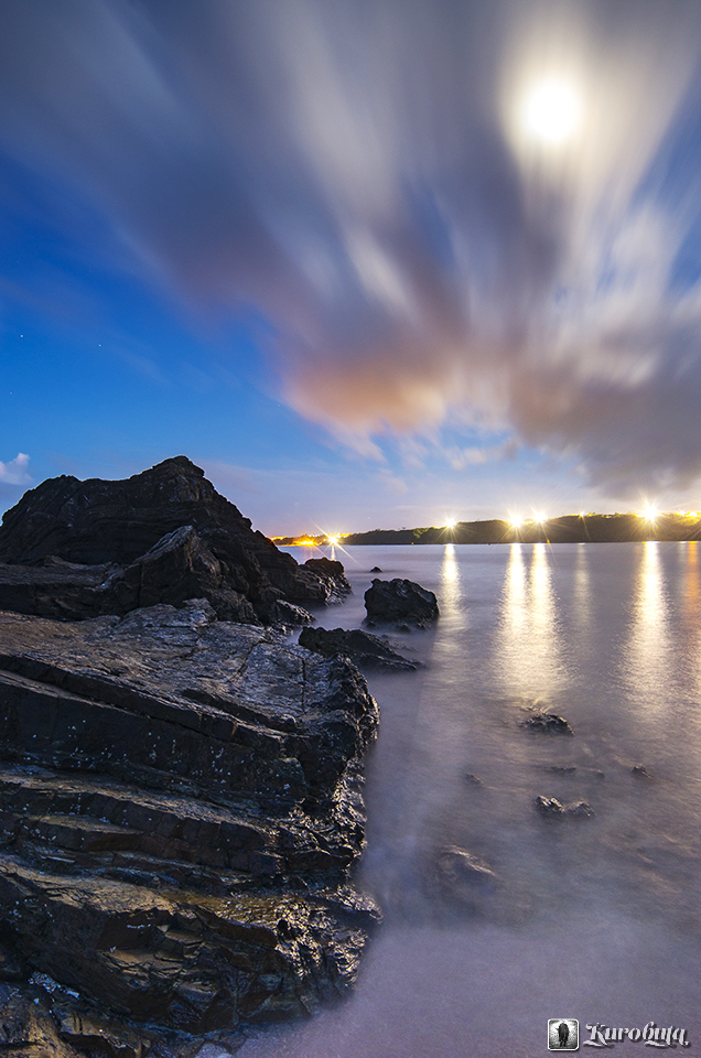
[[[699,40],[687,0],[6,0],[0,143],[152,284],[265,314],[271,385],[364,457],[462,424],[454,468],[525,444],[682,488]],[[524,118],[539,85],[557,136]]]

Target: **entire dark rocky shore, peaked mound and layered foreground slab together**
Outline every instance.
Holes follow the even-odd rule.
[[[0,1045],[170,1058],[352,985],[378,710],[292,645],[347,591],[184,457],[56,478],[0,530]]]

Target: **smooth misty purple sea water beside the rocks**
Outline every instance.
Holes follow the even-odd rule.
[[[347,1001],[239,1054],[532,1058],[548,1018],[574,1017],[584,1038],[594,1022],[682,1027],[680,1052],[701,1055],[701,544],[336,558],[354,594],[320,625],[360,626],[374,565],[441,608],[435,629],[392,634],[424,669],[368,677],[382,719],[358,883],[385,925]],[[540,709],[574,736],[524,728]],[[544,820],[538,795],[596,814]],[[495,882],[446,887],[446,846]]]

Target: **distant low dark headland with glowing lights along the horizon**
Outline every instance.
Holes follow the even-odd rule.
[[[337,535],[272,537],[278,547],[399,543],[630,543],[641,540],[700,540],[701,511],[667,514],[580,514],[526,520],[456,521],[417,529],[370,529]]]

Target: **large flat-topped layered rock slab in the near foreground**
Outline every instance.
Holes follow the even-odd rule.
[[[0,614],[13,1055],[235,1048],[355,978],[377,919],[347,881],[377,708],[346,659],[215,617],[206,600]]]

